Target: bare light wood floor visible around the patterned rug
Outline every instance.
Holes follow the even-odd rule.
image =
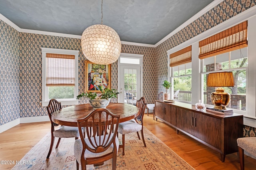
[[[240,163],[236,153],[226,155],[221,162],[220,154],[197,142],[176,129],[153,121],[153,115],[144,115],[144,126],[162,140],[196,170],[239,170]],[[0,133],[0,160],[20,160],[37,142],[50,132],[50,121],[26,123]],[[256,170],[256,160],[245,156],[245,169]],[[11,169],[14,165],[0,164],[0,170]]]

